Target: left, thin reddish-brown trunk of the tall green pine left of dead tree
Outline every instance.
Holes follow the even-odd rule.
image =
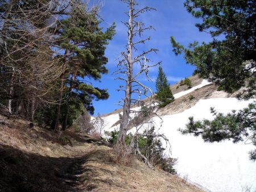
[[[67,55],[68,55],[68,51],[66,50],[65,54],[64,54],[64,59],[63,59],[64,68],[66,67]],[[56,108],[55,108],[54,119],[52,121],[52,130],[56,130],[57,126],[59,125],[60,106],[61,106],[61,102],[62,102],[63,89],[64,89],[64,79],[65,79],[65,69],[63,70],[63,73],[60,76],[59,98],[58,98],[58,103],[57,103]]]

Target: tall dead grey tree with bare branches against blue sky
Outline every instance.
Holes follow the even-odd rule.
[[[125,86],[119,86],[119,91],[125,91],[125,98],[123,99],[123,115],[121,120],[121,126],[119,129],[118,135],[118,146],[123,148],[126,151],[125,138],[128,131],[128,123],[130,118],[130,107],[131,103],[135,103],[138,99],[132,101],[131,95],[133,93],[138,94],[139,98],[141,95],[145,95],[148,97],[147,93],[153,94],[150,87],[143,85],[142,82],[138,80],[138,77],[144,74],[148,81],[151,81],[150,77],[148,77],[148,71],[150,68],[157,66],[160,62],[156,64],[149,64],[150,59],[147,58],[148,53],[157,52],[157,49],[151,48],[147,51],[142,51],[137,56],[133,55],[133,52],[137,48],[136,46],[139,44],[145,44],[146,41],[150,40],[150,37],[146,37],[143,39],[143,32],[146,30],[154,29],[152,26],[146,27],[145,24],[137,18],[140,14],[144,12],[155,10],[152,7],[143,7],[142,9],[137,9],[138,3],[135,0],[121,0],[123,3],[126,3],[129,7],[129,12],[126,14],[129,16],[128,22],[123,22],[128,29],[128,43],[127,43],[127,52],[121,52],[121,56],[119,56],[118,62],[118,70],[116,74],[122,75],[118,77],[118,80],[125,81]],[[134,65],[139,65],[140,70],[134,73]],[[125,76],[125,77],[123,77]]]

